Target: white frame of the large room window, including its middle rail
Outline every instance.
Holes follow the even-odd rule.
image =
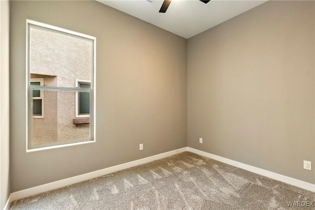
[[[30,84],[31,81],[31,73],[30,73],[30,28],[36,28],[41,30],[51,30],[54,32],[62,33],[65,35],[85,39],[92,42],[92,65],[91,65],[91,89],[84,89],[84,88],[67,88],[67,87],[52,87],[52,86],[34,86]],[[61,148],[61,147],[68,147],[72,145],[81,145],[81,144],[88,144],[95,142],[95,78],[96,78],[96,38],[90,35],[86,35],[83,33],[62,29],[59,27],[51,26],[48,24],[43,24],[37,21],[26,20],[26,113],[27,116],[27,138],[26,138],[26,151],[38,151],[38,150],[47,150],[47,149],[54,149],[54,148]],[[68,141],[61,141],[61,142],[51,142],[45,144],[33,144],[33,117],[32,117],[32,90],[55,90],[55,91],[72,91],[72,92],[90,92],[90,138],[87,139],[75,139],[75,140],[68,140]]]

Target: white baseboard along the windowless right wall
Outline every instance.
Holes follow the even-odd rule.
[[[221,156],[211,154],[211,153],[208,153],[205,151],[196,150],[196,149],[189,148],[189,147],[187,147],[187,150],[190,152],[205,156],[205,157],[209,157],[209,158],[214,159],[214,160],[218,160],[222,163],[226,163],[226,164],[229,164],[231,166],[235,166],[235,167],[244,169],[246,171],[253,172],[255,174],[259,174],[259,175],[262,175],[262,176],[265,176],[265,177],[268,177],[268,178],[271,178],[274,180],[282,181],[284,183],[291,184],[291,185],[315,192],[315,184],[311,184],[311,183],[308,183],[305,181],[297,180],[297,179],[294,179],[291,177],[286,177],[286,176],[281,175],[281,174],[277,174],[277,173],[267,171],[267,170],[264,170],[261,168],[257,168],[257,167],[250,166],[250,165],[247,165],[244,163],[240,163],[240,162],[237,162],[235,160],[230,160],[230,159],[227,159],[225,157],[221,157]]]

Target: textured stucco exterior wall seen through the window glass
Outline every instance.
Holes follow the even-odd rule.
[[[44,85],[75,87],[91,81],[92,42],[47,30],[30,30],[31,77]],[[76,127],[75,93],[44,91],[44,118],[33,119],[33,144],[89,138],[90,126]]]

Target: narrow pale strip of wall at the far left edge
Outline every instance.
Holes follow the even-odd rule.
[[[0,1],[0,209],[10,194],[9,1]]]

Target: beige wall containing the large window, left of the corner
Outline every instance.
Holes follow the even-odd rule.
[[[187,146],[186,39],[97,1],[10,6],[13,192]],[[26,153],[27,18],[96,37],[96,143]]]

